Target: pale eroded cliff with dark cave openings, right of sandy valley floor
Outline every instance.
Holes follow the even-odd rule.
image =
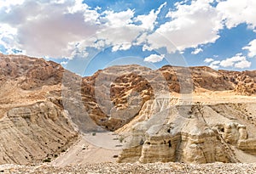
[[[126,130],[123,136],[128,143],[119,162],[239,162],[235,149],[255,154],[255,134],[248,138],[247,126],[219,114],[216,106],[163,105],[164,109]]]

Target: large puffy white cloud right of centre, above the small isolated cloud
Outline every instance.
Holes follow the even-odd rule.
[[[170,11],[166,17],[172,20],[160,25],[154,34],[148,36],[152,48],[167,47],[173,52],[172,42],[178,50],[196,48],[198,45],[215,42],[218,31],[223,29],[221,16],[210,4],[212,0],[197,0],[191,4],[177,3],[177,10]],[[158,33],[166,37],[159,39]]]

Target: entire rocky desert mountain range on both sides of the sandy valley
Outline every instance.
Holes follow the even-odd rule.
[[[0,164],[54,160],[106,131],[122,143],[119,162],[256,158],[256,71],[122,65],[81,77],[3,54],[0,67]]]

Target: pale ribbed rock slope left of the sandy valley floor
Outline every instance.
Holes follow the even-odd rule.
[[[77,138],[67,115],[50,102],[9,109],[0,125],[1,164],[53,159]]]

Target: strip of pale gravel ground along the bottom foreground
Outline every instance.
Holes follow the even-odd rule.
[[[222,173],[222,174],[248,174],[256,173],[256,163],[252,164],[224,164],[212,163],[205,165],[189,165],[182,163],[99,163],[83,166],[54,167],[48,165],[41,166],[0,166],[0,173]]]

